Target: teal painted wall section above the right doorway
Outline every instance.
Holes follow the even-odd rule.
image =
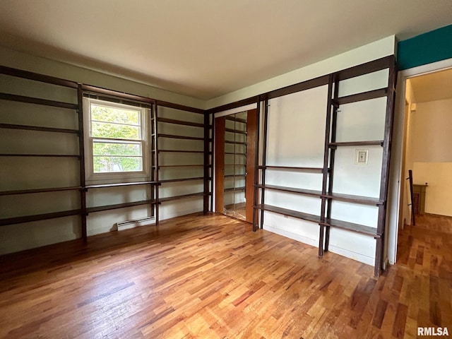
[[[452,25],[432,30],[397,44],[398,70],[452,58]]]

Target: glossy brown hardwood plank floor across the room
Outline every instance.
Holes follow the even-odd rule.
[[[224,215],[0,257],[0,338],[416,338],[452,331],[450,218],[373,267]],[[449,222],[449,223],[448,223]],[[439,225],[441,224],[441,225]]]

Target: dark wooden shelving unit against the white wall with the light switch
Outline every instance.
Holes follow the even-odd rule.
[[[376,90],[369,90],[363,93],[346,95],[339,97],[340,81],[344,81],[357,76],[363,76],[368,73],[388,69],[388,87],[379,88]],[[317,78],[313,81],[289,86],[272,93],[266,93],[258,97],[258,102],[263,102],[263,112],[261,118],[263,119],[263,133],[261,133],[261,142],[256,145],[258,149],[261,146],[261,160],[256,159],[256,184],[255,184],[255,198],[254,203],[254,230],[260,227],[263,228],[264,211],[287,215],[292,218],[311,221],[319,225],[319,256],[323,256],[324,251],[328,251],[330,242],[331,227],[345,230],[347,232],[356,232],[367,236],[374,237],[376,240],[376,254],[374,263],[375,275],[380,274],[382,267],[383,254],[383,239],[385,232],[385,218],[386,218],[386,200],[388,194],[388,171],[389,160],[391,157],[391,131],[393,124],[393,103],[395,96],[395,80],[396,69],[393,56],[371,61],[367,64],[352,67],[344,71],[339,71],[328,75],[328,77]],[[328,100],[326,109],[326,128],[325,128],[325,145],[323,151],[323,167],[290,167],[284,165],[267,165],[267,124],[268,124],[268,99],[295,93],[298,90],[307,90],[320,85],[328,85]],[[278,93],[277,93],[278,92]],[[353,102],[360,102],[365,100],[372,100],[379,97],[386,97],[386,115],[384,117],[384,131],[383,140],[358,140],[358,141],[338,141],[336,139],[338,132],[338,114],[340,114],[340,106],[351,104]],[[365,112],[363,112],[365,114]],[[382,162],[381,162],[381,177],[379,179],[379,197],[369,196],[355,196],[351,194],[342,194],[333,191],[333,181],[335,174],[335,157],[336,150],[339,148],[347,148],[350,146],[371,146],[383,148]],[[290,172],[313,172],[320,173],[323,176],[321,191],[303,189],[299,187],[287,187],[266,184],[266,171],[271,169],[273,171],[290,171]],[[287,194],[297,194],[304,196],[311,196],[321,199],[321,208],[319,214],[312,215],[302,212],[303,206],[299,210],[290,210],[284,206],[269,206],[265,203],[266,191],[275,190],[285,192]],[[355,205],[376,206],[378,208],[378,222],[373,227],[368,225],[360,225],[355,222],[347,220],[336,220],[331,218],[333,201],[341,201]],[[260,216],[257,211],[261,210]]]

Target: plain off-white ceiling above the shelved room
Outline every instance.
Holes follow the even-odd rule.
[[[206,100],[451,23],[451,0],[0,0],[5,47]]]

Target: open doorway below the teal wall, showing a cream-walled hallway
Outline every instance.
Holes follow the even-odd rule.
[[[405,80],[400,203],[398,210],[399,239],[397,257],[406,259],[407,232],[414,237],[417,229],[441,228],[439,220],[452,220],[452,69],[418,73]],[[412,181],[422,188],[412,202],[405,178],[412,170]],[[413,207],[415,206],[415,207]],[[413,225],[412,208],[421,211]],[[439,217],[441,216],[441,217]],[[418,225],[417,218],[421,225]],[[435,222],[432,222],[435,220]],[[449,222],[450,223],[450,222]],[[404,226],[408,225],[404,230]],[[411,227],[413,225],[413,227]],[[432,228],[433,227],[433,228]],[[416,229],[416,231],[415,231]]]

